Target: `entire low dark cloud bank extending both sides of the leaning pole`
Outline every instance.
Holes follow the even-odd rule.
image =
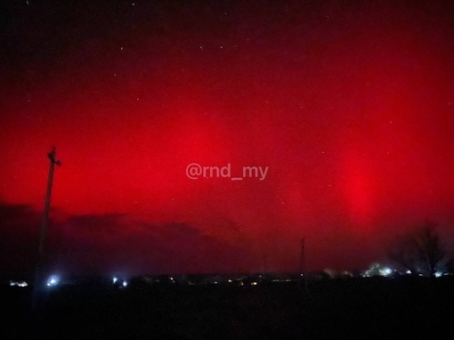
[[[41,215],[31,206],[0,204],[0,271],[4,279],[31,279]],[[126,215],[73,215],[49,223],[46,271],[64,275],[189,273],[247,270],[244,247],[186,223],[131,222]]]

